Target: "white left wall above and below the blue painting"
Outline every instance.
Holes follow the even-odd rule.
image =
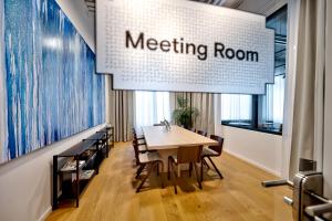
[[[58,0],[59,6],[94,51],[94,23],[83,0]],[[80,133],[0,166],[0,219],[43,220],[51,212],[52,157],[104,125]]]

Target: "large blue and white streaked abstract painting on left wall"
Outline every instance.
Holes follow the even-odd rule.
[[[55,0],[4,0],[0,164],[105,122],[104,76]]]

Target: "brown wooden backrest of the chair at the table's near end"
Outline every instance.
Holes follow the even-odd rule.
[[[177,149],[177,162],[199,162],[203,146],[180,146]]]

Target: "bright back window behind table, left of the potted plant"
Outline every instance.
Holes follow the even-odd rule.
[[[135,126],[152,126],[170,120],[168,92],[135,92]]]

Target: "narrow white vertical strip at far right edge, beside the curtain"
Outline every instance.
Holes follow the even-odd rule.
[[[325,128],[324,128],[324,187],[332,199],[332,1],[326,1],[326,72],[325,72]]]

